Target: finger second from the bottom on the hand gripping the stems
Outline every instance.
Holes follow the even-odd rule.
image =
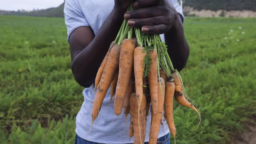
[[[166,24],[165,16],[154,16],[151,18],[139,18],[128,20],[128,26],[142,27],[142,26],[155,26],[158,24]]]

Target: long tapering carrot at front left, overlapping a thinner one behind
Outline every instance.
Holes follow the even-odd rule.
[[[106,66],[103,70],[102,77],[97,86],[97,92],[96,92],[96,96],[95,96],[93,108],[92,108],[92,123],[97,118],[100,112],[102,102],[114,78],[114,75],[118,70],[119,54],[120,54],[120,46],[114,45],[109,52],[109,58],[106,62]]]

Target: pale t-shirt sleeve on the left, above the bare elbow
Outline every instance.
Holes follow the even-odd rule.
[[[70,34],[80,26],[90,26],[87,22],[77,0],[65,0],[64,4],[65,23],[68,31],[68,42]]]

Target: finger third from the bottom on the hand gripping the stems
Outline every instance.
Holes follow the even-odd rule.
[[[161,16],[166,14],[167,9],[165,10],[162,8],[159,10],[158,6],[151,6],[148,8],[140,8],[134,11],[126,12],[124,14],[124,18],[126,20],[128,19],[136,19],[136,18],[149,18],[149,17],[154,17],[154,16]]]

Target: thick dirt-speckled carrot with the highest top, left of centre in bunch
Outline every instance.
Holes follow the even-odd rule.
[[[125,93],[130,83],[133,54],[136,42],[132,39],[125,39],[122,42],[119,58],[119,74],[114,98],[114,110],[116,115],[120,115],[124,104]]]

